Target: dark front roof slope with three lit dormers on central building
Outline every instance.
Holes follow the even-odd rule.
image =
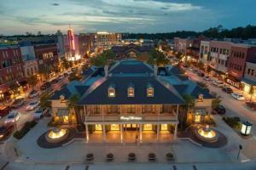
[[[134,84],[135,97],[127,97],[127,87]],[[97,83],[97,82],[96,82]],[[147,85],[154,88],[154,97],[147,97]],[[108,97],[108,88],[115,84],[115,97]],[[93,86],[93,85],[92,85]],[[108,77],[97,88],[79,100],[78,105],[183,104],[183,99],[154,77]]]

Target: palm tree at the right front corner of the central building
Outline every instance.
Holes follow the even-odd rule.
[[[180,117],[181,127],[187,122],[187,114],[188,112],[194,108],[195,106],[195,98],[189,94],[184,94],[183,99],[185,101],[184,105],[182,106],[183,111]]]

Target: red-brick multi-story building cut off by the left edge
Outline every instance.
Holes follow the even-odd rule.
[[[9,88],[13,84],[19,87],[20,91],[22,85],[25,84],[26,78],[23,73],[23,62],[20,47],[10,46],[0,48],[0,91],[3,98],[8,97]]]

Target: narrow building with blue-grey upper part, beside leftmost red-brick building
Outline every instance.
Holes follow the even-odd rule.
[[[23,71],[25,77],[29,77],[38,73],[38,61],[33,46],[20,47],[23,59]]]

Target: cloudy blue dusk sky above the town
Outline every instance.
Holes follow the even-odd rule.
[[[0,34],[202,31],[256,25],[255,0],[0,0]]]

